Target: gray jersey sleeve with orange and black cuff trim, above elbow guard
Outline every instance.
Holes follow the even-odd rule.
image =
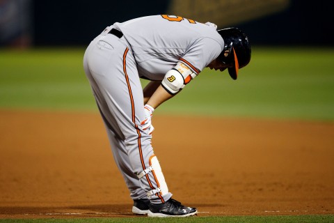
[[[221,44],[212,38],[199,38],[187,49],[180,61],[197,74],[223,51]]]

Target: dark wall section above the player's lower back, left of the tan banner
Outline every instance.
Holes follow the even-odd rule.
[[[34,45],[88,45],[106,26],[166,13],[167,0],[35,0]]]

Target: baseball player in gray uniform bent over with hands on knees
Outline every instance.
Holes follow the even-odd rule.
[[[151,119],[154,109],[205,67],[227,68],[237,79],[239,68],[249,63],[246,35],[236,28],[216,28],[180,16],[140,17],[107,26],[86,49],[84,70],[135,214],[187,217],[197,213],[196,208],[172,199],[151,145]],[[151,82],[143,89],[140,78]]]

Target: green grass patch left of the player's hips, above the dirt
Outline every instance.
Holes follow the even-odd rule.
[[[0,107],[93,109],[84,49],[0,52]]]

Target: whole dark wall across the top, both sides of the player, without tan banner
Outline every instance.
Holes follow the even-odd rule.
[[[2,12],[6,12],[3,2],[13,1],[29,2],[31,22],[24,43],[32,46],[86,46],[114,22],[145,15],[174,15],[168,13],[170,0],[3,0]],[[253,45],[333,46],[333,6],[331,0],[291,0],[279,13],[231,26],[243,29]]]

